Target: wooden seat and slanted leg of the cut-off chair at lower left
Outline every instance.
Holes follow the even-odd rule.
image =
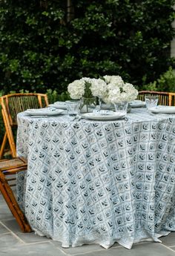
[[[23,158],[16,157],[13,159],[0,160],[0,191],[7,206],[16,218],[17,223],[19,223],[22,232],[32,232],[7,180],[8,175],[16,174],[24,170],[27,170],[27,162]]]

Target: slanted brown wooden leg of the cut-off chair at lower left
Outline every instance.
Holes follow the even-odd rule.
[[[12,212],[13,216],[16,218],[17,223],[19,223],[22,232],[32,232],[29,223],[27,223],[27,219],[24,216],[22,210],[19,208],[19,205],[16,201],[16,198],[11,190],[10,186],[5,180],[4,174],[0,174],[0,191],[4,197],[4,200],[7,203],[10,211]]]

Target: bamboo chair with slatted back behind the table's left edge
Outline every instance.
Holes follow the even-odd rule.
[[[48,105],[47,94],[42,93],[14,93],[0,97],[1,114],[4,120],[5,134],[1,143],[0,159],[4,157],[7,142],[10,154],[16,157],[16,143],[13,128],[17,127],[17,114],[28,108],[44,108]]]

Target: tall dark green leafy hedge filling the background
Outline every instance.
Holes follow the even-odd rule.
[[[142,88],[168,70],[174,0],[0,1],[0,90],[60,94],[82,76]]]

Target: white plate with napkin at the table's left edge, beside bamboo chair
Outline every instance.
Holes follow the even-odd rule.
[[[30,116],[54,116],[62,114],[62,112],[64,112],[63,109],[56,108],[31,108],[25,111],[25,113]]]

